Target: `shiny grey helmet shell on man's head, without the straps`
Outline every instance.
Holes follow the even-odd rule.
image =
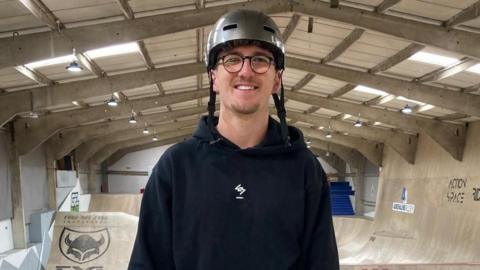
[[[222,45],[234,40],[256,40],[264,43],[274,54],[277,69],[284,69],[285,46],[282,33],[275,22],[256,10],[239,9],[218,19],[208,35],[205,64],[211,70]]]

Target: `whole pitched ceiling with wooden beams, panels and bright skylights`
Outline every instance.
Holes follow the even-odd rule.
[[[20,155],[45,143],[97,164],[180,141],[206,112],[213,23],[249,8],[283,31],[287,117],[312,147],[381,166],[387,145],[413,164],[422,134],[461,161],[480,1],[335,2],[0,0],[0,126]]]

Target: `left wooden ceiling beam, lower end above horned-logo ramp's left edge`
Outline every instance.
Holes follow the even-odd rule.
[[[49,139],[49,145],[53,149],[56,159],[61,159],[80,144],[90,139],[95,139],[105,134],[122,132],[132,127],[144,128],[147,125],[157,124],[165,121],[172,121],[178,118],[205,113],[206,107],[174,110],[168,112],[142,115],[137,124],[128,123],[127,119],[112,120],[92,125],[63,129]],[[152,132],[150,130],[150,132]]]

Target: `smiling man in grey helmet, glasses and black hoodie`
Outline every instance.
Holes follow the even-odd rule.
[[[256,11],[224,15],[206,64],[209,115],[155,166],[129,269],[339,269],[325,173],[285,122],[278,27]]]

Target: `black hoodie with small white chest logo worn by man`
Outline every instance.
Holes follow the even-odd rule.
[[[145,189],[130,270],[337,270],[326,176],[289,127],[240,149],[207,118],[169,148]]]

